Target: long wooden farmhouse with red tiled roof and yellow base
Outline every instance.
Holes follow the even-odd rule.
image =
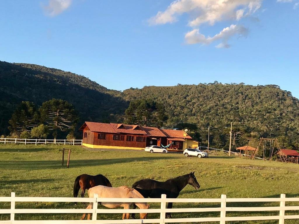
[[[179,130],[116,123],[84,122],[83,145],[89,148],[144,149],[149,145],[168,149],[195,148],[198,142]]]

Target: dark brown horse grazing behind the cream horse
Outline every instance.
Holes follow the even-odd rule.
[[[79,190],[81,188],[81,197],[84,197],[85,190],[92,188],[97,185],[103,185],[107,187],[112,187],[109,179],[107,179],[102,174],[96,176],[91,176],[88,174],[81,174],[75,179],[74,182],[74,197],[78,196]]]

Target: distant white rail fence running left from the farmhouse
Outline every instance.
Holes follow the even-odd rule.
[[[0,142],[6,143],[24,143],[26,144],[61,144],[61,145],[82,145],[82,139],[10,139],[0,138]]]

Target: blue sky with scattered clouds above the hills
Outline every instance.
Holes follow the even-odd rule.
[[[299,0],[0,1],[0,60],[109,89],[244,82],[299,98]]]

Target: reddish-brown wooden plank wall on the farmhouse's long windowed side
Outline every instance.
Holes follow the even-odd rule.
[[[105,133],[97,133],[94,132],[94,139],[93,139],[93,145],[109,145],[109,146],[124,146],[124,147],[135,147],[135,148],[145,148],[146,142],[136,142],[136,137],[143,135],[129,135],[128,136],[134,136],[134,141],[126,141],[126,134],[124,135],[123,141],[121,140],[113,140],[114,134],[108,134],[106,133],[106,139],[98,139],[98,134],[105,134]],[[148,137],[144,137],[148,138]]]

